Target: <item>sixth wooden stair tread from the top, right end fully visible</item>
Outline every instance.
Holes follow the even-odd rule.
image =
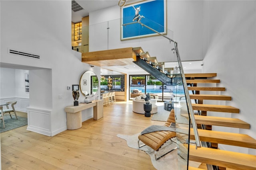
[[[188,117],[187,114],[182,114],[182,116]],[[250,129],[249,123],[236,118],[195,115],[195,119],[197,124]]]

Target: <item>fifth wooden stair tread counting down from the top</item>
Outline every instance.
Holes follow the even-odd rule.
[[[194,110],[201,111],[218,111],[228,113],[239,113],[239,109],[232,106],[212,105],[212,104],[192,104]]]

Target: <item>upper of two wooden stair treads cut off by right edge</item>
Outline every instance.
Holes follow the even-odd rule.
[[[200,141],[256,149],[256,140],[245,134],[209,131],[203,129],[198,129],[198,134]],[[190,136],[191,139],[194,139],[193,129],[190,130]]]

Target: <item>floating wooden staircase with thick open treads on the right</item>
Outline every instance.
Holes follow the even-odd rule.
[[[213,148],[198,148],[190,145],[189,159],[196,162],[203,162],[220,167],[221,169],[232,168],[238,170],[256,170],[256,156],[250,154],[242,154],[238,152],[230,152],[218,149],[218,144],[232,145],[238,147],[256,149],[256,140],[245,134],[227,133],[222,131],[212,131],[212,126],[225,126],[234,128],[250,129],[250,125],[240,119],[207,116],[207,111],[222,112],[223,114],[239,113],[239,109],[232,106],[209,105],[204,104],[204,100],[232,100],[231,96],[224,95],[204,95],[200,91],[224,91],[224,87],[199,87],[198,83],[219,83],[220,80],[207,79],[208,77],[217,76],[211,74],[185,74],[186,80],[190,87],[188,90],[194,90],[190,95],[191,99],[196,99],[197,104],[192,104],[196,111],[200,111],[202,115],[195,115],[196,123],[206,125],[206,129],[198,129],[201,141],[210,142]],[[186,116],[186,115],[184,115]],[[190,137],[194,139],[194,132],[190,131]],[[190,168],[189,168],[190,169]],[[192,170],[194,168],[191,168]]]

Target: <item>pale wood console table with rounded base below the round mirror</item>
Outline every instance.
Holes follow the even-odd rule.
[[[93,107],[93,119],[98,120],[103,117],[103,100],[93,100],[89,104],[78,104],[78,106],[67,106],[67,129],[74,130],[82,127],[82,111]]]

